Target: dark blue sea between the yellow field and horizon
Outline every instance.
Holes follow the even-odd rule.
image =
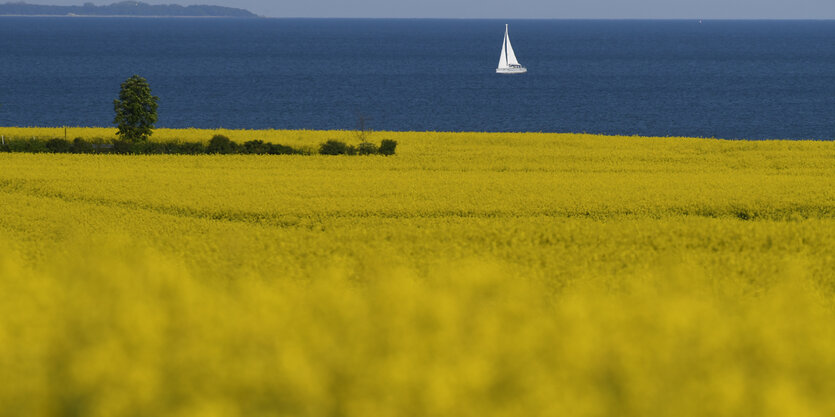
[[[835,138],[835,21],[0,18],[0,125]]]

